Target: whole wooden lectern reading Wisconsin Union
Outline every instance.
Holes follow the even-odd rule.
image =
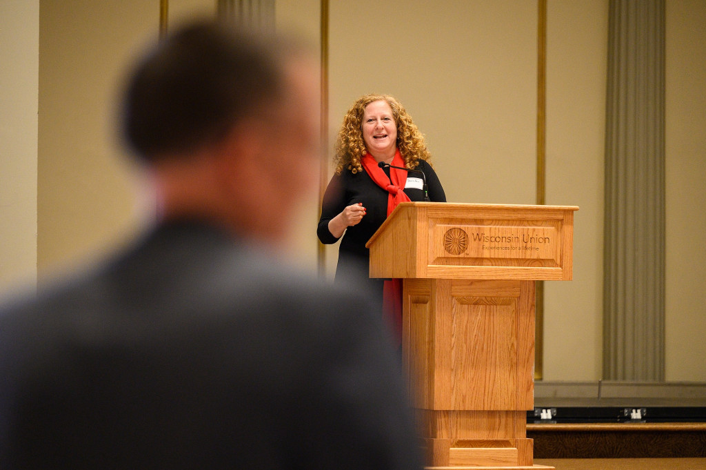
[[[370,276],[404,278],[402,354],[430,469],[532,460],[534,281],[570,280],[575,206],[402,203]]]

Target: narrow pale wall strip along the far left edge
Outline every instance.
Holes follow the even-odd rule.
[[[39,9],[0,3],[0,290],[37,275]]]

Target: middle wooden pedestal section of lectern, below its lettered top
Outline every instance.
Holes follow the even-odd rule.
[[[517,410],[533,406],[533,283],[405,281],[403,345],[414,406]]]

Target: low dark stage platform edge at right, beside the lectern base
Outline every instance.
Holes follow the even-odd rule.
[[[537,382],[535,459],[706,457],[706,384]]]

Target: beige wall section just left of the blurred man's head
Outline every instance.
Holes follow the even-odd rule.
[[[37,257],[41,273],[97,256],[135,227],[114,98],[133,48],[156,37],[158,1],[41,1]]]

